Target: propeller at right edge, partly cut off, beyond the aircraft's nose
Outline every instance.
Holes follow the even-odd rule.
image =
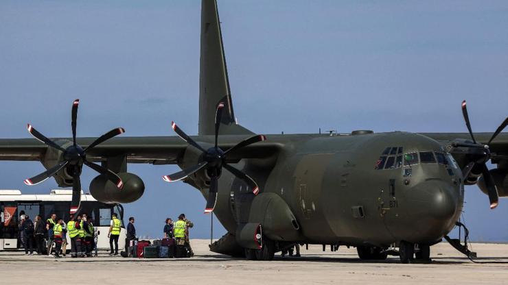
[[[471,139],[473,140],[473,143],[452,143],[453,147],[467,147],[467,154],[470,155],[471,162],[469,162],[464,169],[462,170],[462,173],[464,177],[469,176],[471,171],[474,169],[474,173],[481,173],[483,175],[483,179],[485,180],[485,186],[487,187],[487,193],[489,195],[489,201],[490,201],[490,208],[494,209],[498,206],[499,203],[499,197],[498,197],[498,190],[496,188],[496,184],[494,182],[494,178],[489,172],[489,169],[487,168],[487,162],[491,158],[498,158],[495,154],[490,152],[489,145],[492,143],[492,140],[500,134],[500,132],[503,132],[503,129],[508,125],[508,117],[499,125],[499,127],[496,129],[496,132],[492,134],[490,137],[487,145],[482,145],[481,143],[477,143],[476,139],[474,138],[474,134],[471,128],[471,123],[469,120],[469,116],[467,115],[467,105],[465,103],[465,100],[462,101],[462,114],[464,116],[465,125],[467,127],[467,131],[469,131]]]

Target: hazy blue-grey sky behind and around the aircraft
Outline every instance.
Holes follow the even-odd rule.
[[[506,1],[218,1],[238,121],[265,134],[475,132],[507,116]],[[125,136],[198,129],[200,1],[1,1],[0,136],[69,136],[80,98],[78,136],[117,126]],[[165,184],[176,166],[129,165],[145,195],[126,205],[139,234],[160,236],[166,216],[185,212],[194,237],[209,236],[205,200]],[[0,162],[0,188],[29,188],[38,162]],[[95,176],[88,169],[82,181]],[[508,199],[488,208],[466,187],[472,239],[508,240]],[[217,225],[216,225],[217,226]],[[216,235],[222,232],[216,230]]]

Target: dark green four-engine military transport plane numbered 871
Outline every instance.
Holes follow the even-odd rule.
[[[124,132],[117,128],[76,138],[76,100],[71,138],[49,139],[28,125],[37,140],[1,139],[0,160],[41,161],[47,171],[25,183],[54,177],[72,186],[73,214],[83,164],[100,173],[93,197],[119,203],[144,191],[128,163],[178,164],[183,171],[163,179],[200,190],[205,212],[227,230],[211,251],[249,260],[271,260],[295,243],[354,246],[367,260],[428,260],[459,219],[464,185],[478,184],[490,208],[508,196],[508,118],[493,134],[474,134],[465,101],[468,133],[253,134],[235,123],[216,1],[203,0],[201,13],[198,136],[171,123],[178,136],[113,138]],[[487,169],[489,161],[497,168]]]

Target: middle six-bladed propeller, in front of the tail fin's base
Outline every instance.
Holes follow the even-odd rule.
[[[253,143],[258,143],[262,142],[263,140],[266,140],[266,136],[264,135],[251,136],[250,138],[242,140],[234,147],[231,147],[231,149],[227,149],[227,151],[222,151],[222,149],[218,147],[218,134],[223,109],[224,102],[221,101],[220,103],[218,103],[215,116],[215,144],[213,147],[210,147],[209,149],[206,150],[200,145],[198,145],[198,143],[196,143],[192,138],[187,136],[187,134],[185,134],[185,132],[183,132],[183,130],[180,129],[178,125],[176,125],[176,123],[171,122],[171,127],[174,130],[174,132],[176,132],[176,134],[178,134],[178,136],[180,136],[183,140],[185,140],[189,145],[192,145],[193,147],[196,147],[196,149],[202,151],[203,155],[201,156],[202,161],[200,161],[198,164],[190,166],[187,169],[183,169],[182,171],[178,171],[170,175],[164,175],[162,178],[165,182],[175,182],[181,179],[185,179],[189,175],[196,173],[196,171],[205,168],[207,174],[210,177],[210,188],[207,199],[207,206],[205,208],[205,214],[213,212],[213,208],[215,208],[217,201],[218,178],[222,173],[223,167],[236,177],[246,182],[246,184],[249,185],[249,187],[252,189],[252,193],[254,195],[257,195],[257,193],[259,193],[259,187],[257,186],[254,179],[252,179],[249,175],[246,175],[243,171],[240,171],[235,167],[229,165],[226,162],[226,158],[228,153],[238,151],[238,149],[242,149],[243,147],[252,145]]]

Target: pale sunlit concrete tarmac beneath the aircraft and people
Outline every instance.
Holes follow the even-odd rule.
[[[358,259],[356,249],[323,252],[301,249],[301,258],[277,254],[259,262],[229,258],[208,250],[209,240],[191,240],[196,256],[179,259],[110,257],[61,258],[0,253],[0,284],[508,284],[508,244],[473,243],[474,263],[448,243],[431,247],[430,264],[400,264],[396,256],[378,262]],[[56,280],[61,280],[56,282]],[[69,280],[70,281],[70,280]],[[76,283],[76,282],[73,282]],[[73,284],[72,283],[72,284]]]

